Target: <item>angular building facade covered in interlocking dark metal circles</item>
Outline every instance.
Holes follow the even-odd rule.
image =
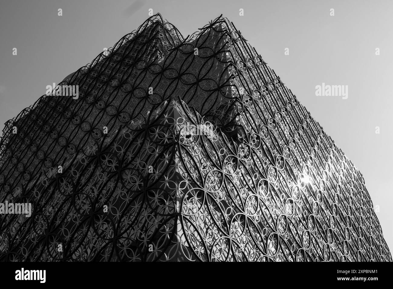
[[[0,215],[0,260],[392,260],[360,171],[226,18],[155,15],[62,84],[3,131],[1,202],[32,215]]]

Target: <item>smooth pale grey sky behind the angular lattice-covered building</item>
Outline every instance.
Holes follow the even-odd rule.
[[[393,1],[0,0],[0,135],[149,9],[184,36],[221,14],[233,22],[362,172],[393,249]],[[316,96],[322,83],[347,85],[348,97]]]

